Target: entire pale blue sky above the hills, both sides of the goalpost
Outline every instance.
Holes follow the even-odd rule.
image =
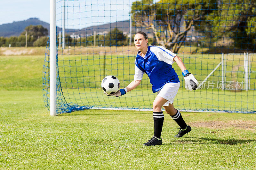
[[[56,1],[58,25],[61,1]],[[99,23],[127,20],[130,18],[129,9],[133,1],[135,0],[65,0],[69,6],[67,8],[66,18],[68,19],[66,24],[68,23],[69,26],[74,24],[78,28],[81,25],[91,26]],[[83,5],[85,7],[81,7]],[[75,7],[73,8],[73,6]],[[78,12],[79,10],[80,12]],[[73,11],[75,11],[75,15],[73,15]],[[49,23],[49,13],[50,0],[1,0],[0,25],[28,18],[39,18]]]

